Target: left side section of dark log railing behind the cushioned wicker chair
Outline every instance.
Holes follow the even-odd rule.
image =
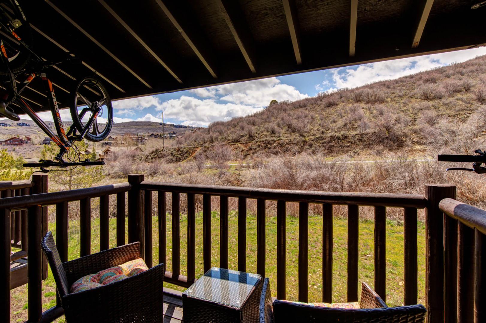
[[[45,178],[44,178],[45,179]],[[35,180],[34,180],[35,182]],[[47,183],[47,181],[46,181]],[[38,184],[34,183],[34,188]],[[42,268],[43,255],[40,242],[47,232],[47,223],[43,225],[44,210],[55,205],[56,209],[56,245],[62,261],[68,260],[68,203],[80,202],[80,244],[81,256],[91,253],[91,199],[100,198],[100,250],[109,248],[109,195],[117,196],[117,245],[125,244],[125,192],[130,191],[130,183],[104,185],[86,189],[55,193],[39,193],[26,196],[4,197],[0,199],[0,222],[3,237],[10,237],[11,212],[25,211],[27,218],[27,277],[28,277],[28,322],[52,322],[63,314],[58,303],[42,312]],[[0,290],[1,302],[0,321],[10,322],[10,239],[2,239]],[[47,274],[47,271],[46,271]]]

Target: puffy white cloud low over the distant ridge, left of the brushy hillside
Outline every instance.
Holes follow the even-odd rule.
[[[164,111],[167,119],[183,120],[185,125],[208,126],[213,121],[229,120],[260,111],[254,107],[234,103],[218,103],[214,99],[198,99],[182,96],[178,99],[163,102],[157,111]],[[158,115],[160,117],[160,115]]]

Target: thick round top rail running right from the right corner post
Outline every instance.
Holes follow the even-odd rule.
[[[486,211],[464,204],[452,198],[445,198],[439,203],[439,209],[451,218],[461,221],[470,228],[476,228],[486,234]]]

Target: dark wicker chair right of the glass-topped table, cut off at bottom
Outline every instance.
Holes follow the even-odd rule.
[[[423,305],[388,307],[368,284],[362,284],[360,307],[344,309],[314,307],[275,300],[272,303],[268,278],[263,282],[260,297],[260,323],[279,322],[372,322],[421,323],[426,309]]]

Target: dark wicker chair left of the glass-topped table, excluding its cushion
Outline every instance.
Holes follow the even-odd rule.
[[[140,258],[139,242],[61,262],[52,233],[41,243],[46,254],[66,321],[162,322],[164,265],[87,291],[69,293],[77,279]]]

